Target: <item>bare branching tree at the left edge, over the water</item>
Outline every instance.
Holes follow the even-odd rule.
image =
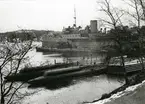
[[[13,43],[3,42],[0,46],[0,93],[1,104],[13,104],[16,100],[22,99],[25,95],[20,95],[19,89],[23,83],[6,82],[5,77],[17,74],[25,56],[31,49],[32,40],[18,42],[17,39]]]

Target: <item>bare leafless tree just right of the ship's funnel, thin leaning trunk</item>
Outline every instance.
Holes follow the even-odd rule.
[[[126,83],[128,83],[128,78],[126,75],[126,69],[125,69],[125,58],[124,58],[124,50],[123,50],[123,45],[122,40],[121,40],[121,34],[119,34],[118,26],[120,28],[123,27],[122,23],[122,16],[124,15],[124,11],[119,10],[111,4],[111,0],[100,0],[98,2],[100,6],[100,11],[104,12],[106,16],[108,16],[108,19],[101,19],[101,21],[109,24],[110,26],[113,27],[113,31],[111,32],[111,35],[113,36],[112,41],[114,41],[114,46],[107,46],[110,48],[116,48],[116,52],[118,53],[118,57],[120,57],[120,63],[122,67],[124,68],[125,71],[125,80]],[[107,63],[109,64],[109,61],[113,56],[108,56],[106,57],[106,60],[108,61]]]

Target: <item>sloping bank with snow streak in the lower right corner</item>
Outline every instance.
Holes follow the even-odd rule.
[[[106,94],[104,98],[87,104],[144,104],[144,97],[145,81],[142,81],[141,83],[132,86],[124,85],[119,89]]]

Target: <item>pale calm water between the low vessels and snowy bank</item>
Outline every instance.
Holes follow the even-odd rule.
[[[123,85],[122,78],[106,75],[74,79],[70,86],[49,90],[44,88],[37,94],[27,98],[23,104],[80,104],[99,99],[102,94],[113,91]],[[51,84],[51,83],[49,83]],[[33,90],[38,90],[33,89]],[[31,89],[32,90],[32,89]]]

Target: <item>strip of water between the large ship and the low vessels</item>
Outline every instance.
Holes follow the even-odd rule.
[[[65,53],[59,54],[59,53],[42,53],[42,52],[36,52],[36,50],[33,50],[28,53],[28,56],[30,57],[30,62],[32,66],[38,66],[43,64],[54,64],[54,63],[63,63],[63,62],[79,62],[80,64],[93,64],[100,62],[100,56],[97,56],[97,54],[92,55],[84,55],[82,53],[81,56],[77,56],[77,54],[72,55],[71,53],[66,53],[68,56],[64,56]]]

